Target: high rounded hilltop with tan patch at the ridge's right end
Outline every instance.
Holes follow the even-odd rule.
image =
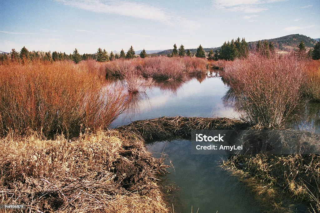
[[[263,39],[264,40],[264,39]],[[316,40],[300,34],[286,35],[275,39],[267,39],[268,42],[273,42],[276,48],[280,50],[291,51],[296,49],[298,44],[303,41],[306,48],[313,48],[316,44]],[[248,42],[249,49],[255,48],[258,41]]]

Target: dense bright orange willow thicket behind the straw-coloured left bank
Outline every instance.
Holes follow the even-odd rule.
[[[124,110],[128,95],[97,72],[88,62],[1,65],[0,135],[106,128]]]

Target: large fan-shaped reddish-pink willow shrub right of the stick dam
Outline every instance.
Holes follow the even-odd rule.
[[[299,106],[304,66],[293,56],[251,55],[226,65],[221,75],[253,125],[284,127]]]

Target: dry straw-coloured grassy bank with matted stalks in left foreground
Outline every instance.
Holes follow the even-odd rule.
[[[165,166],[135,134],[8,136],[0,146],[1,203],[27,212],[168,212],[157,183]]]

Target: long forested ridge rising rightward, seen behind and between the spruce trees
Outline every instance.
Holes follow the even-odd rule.
[[[232,39],[232,38],[231,38]],[[228,39],[231,41],[231,39]],[[234,38],[236,40],[236,38]],[[226,40],[226,41],[228,41]],[[265,40],[265,39],[263,39]],[[262,41],[263,41],[262,40]],[[267,39],[268,42],[273,42],[275,44],[276,48],[279,48],[280,50],[285,50],[285,51],[291,51],[293,49],[296,49],[298,44],[303,41],[305,46],[307,48],[313,48],[314,45],[316,44],[316,40],[305,36],[305,35],[300,35],[300,34],[291,34],[291,35],[286,35],[283,37],[275,38],[275,39]],[[255,48],[257,46],[258,41],[250,41],[248,42],[248,47],[249,50],[252,48]],[[222,45],[222,44],[221,44]],[[179,45],[177,45],[179,48]],[[209,52],[210,49],[215,51],[216,49],[220,49],[220,47],[217,48],[204,48],[205,52]],[[195,49],[190,49],[192,53],[196,53],[196,48]],[[156,53],[157,55],[167,55],[168,53],[172,53],[172,49],[167,49],[161,52]]]

